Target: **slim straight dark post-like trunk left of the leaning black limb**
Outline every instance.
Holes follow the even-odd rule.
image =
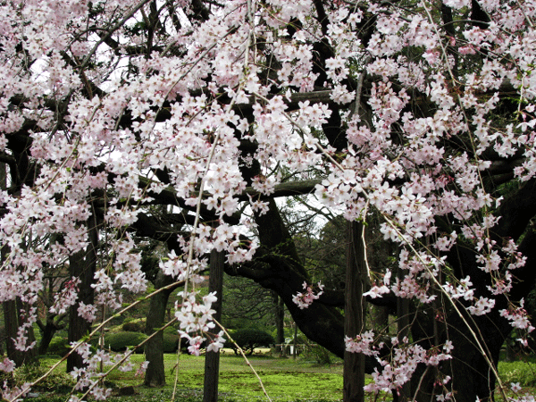
[[[212,308],[216,312],[214,318],[222,320],[222,289],[223,289],[223,264],[225,255],[223,252],[213,250],[210,255],[210,277],[208,281],[208,291],[216,292],[218,300]],[[214,331],[219,331],[216,327]],[[205,384],[203,389],[203,402],[217,402],[218,400],[218,379],[220,374],[220,352],[206,352],[205,354]]]

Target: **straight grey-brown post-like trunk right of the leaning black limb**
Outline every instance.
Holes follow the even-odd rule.
[[[363,223],[348,222],[347,269],[345,284],[344,333],[350,338],[364,330],[365,285],[364,245],[361,239]],[[344,352],[344,402],[364,401],[364,355]]]

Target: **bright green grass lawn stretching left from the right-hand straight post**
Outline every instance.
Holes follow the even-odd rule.
[[[232,352],[231,352],[232,353]],[[261,377],[264,388],[272,400],[278,401],[337,401],[342,398],[342,363],[331,365],[312,364],[292,358],[272,358],[270,356],[250,356],[250,363]],[[139,364],[142,355],[133,356],[132,360]],[[52,359],[42,361],[43,365],[51,364]],[[135,377],[133,372],[113,372],[108,380],[114,388],[134,386],[137,395],[117,397],[115,400],[171,400],[173,386],[177,381],[179,401],[198,401],[203,397],[205,357],[181,355],[177,364],[177,356],[165,355],[165,373],[167,384],[162,389],[149,389],[142,386],[143,378]],[[64,370],[64,364],[58,368]],[[223,355],[220,362],[219,380],[220,400],[267,400],[255,374],[240,356]],[[45,393],[43,402],[51,402],[59,395]]]

